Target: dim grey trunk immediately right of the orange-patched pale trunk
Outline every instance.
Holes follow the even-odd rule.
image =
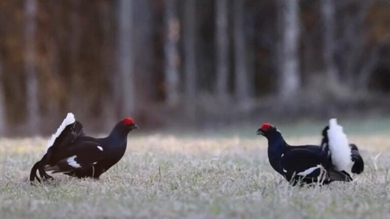
[[[184,2],[184,70],[185,96],[188,118],[195,120],[196,106],[196,0]]]

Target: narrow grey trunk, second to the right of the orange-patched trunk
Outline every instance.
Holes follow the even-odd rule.
[[[216,61],[217,61],[217,95],[226,99],[229,86],[229,35],[227,0],[217,0],[216,3]]]

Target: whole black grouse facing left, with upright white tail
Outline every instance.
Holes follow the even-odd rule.
[[[268,160],[273,169],[292,185],[350,182],[353,179],[348,170],[355,174],[364,171],[357,146],[348,144],[337,119],[330,119],[323,129],[320,145],[291,146],[271,123],[262,124],[257,134],[268,140]]]

